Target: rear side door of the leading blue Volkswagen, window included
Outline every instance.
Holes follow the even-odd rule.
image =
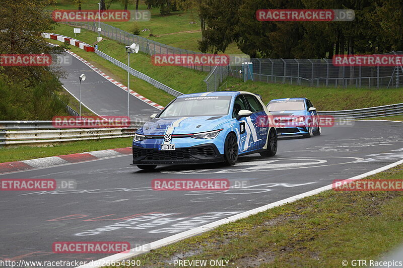
[[[246,119],[251,131],[250,149],[261,149],[266,143],[268,131],[266,124],[262,125],[261,122],[266,122],[268,118],[263,106],[255,96],[245,94],[245,100],[249,106],[249,110],[252,112],[252,115]]]

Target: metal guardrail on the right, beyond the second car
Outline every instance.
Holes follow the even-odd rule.
[[[332,116],[334,119],[363,119],[403,114],[403,103],[370,108],[341,111],[318,111],[319,115]]]

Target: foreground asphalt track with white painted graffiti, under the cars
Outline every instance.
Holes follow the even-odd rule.
[[[77,74],[85,66],[80,68]],[[109,87],[94,84],[86,100],[92,91],[107,93]],[[52,243],[127,241],[135,247],[152,242],[396,162],[403,158],[401,133],[402,123],[358,121],[323,128],[321,136],[283,138],[275,157],[253,154],[235,166],[171,166],[150,172],[130,166],[126,155],[3,174],[0,178],[75,180],[77,189],[1,192],[0,258],[99,259],[110,254],[55,254]],[[228,178],[248,186],[220,192],[154,191],[154,178]]]

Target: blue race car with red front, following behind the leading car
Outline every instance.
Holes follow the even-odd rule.
[[[321,133],[316,108],[306,98],[272,100],[267,104],[267,110],[274,117],[279,135],[302,135],[309,138]]]

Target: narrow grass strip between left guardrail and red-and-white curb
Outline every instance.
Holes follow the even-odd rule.
[[[131,138],[75,141],[43,147],[0,147],[0,163],[129,146],[131,146]]]

